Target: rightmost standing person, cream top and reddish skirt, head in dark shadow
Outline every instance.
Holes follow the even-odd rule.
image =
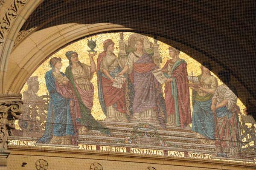
[[[229,83],[230,74],[228,72],[220,71],[218,75],[224,83],[216,89],[211,105],[216,124],[217,154],[218,156],[239,158],[241,152],[241,130],[239,125],[240,109],[236,105],[236,88]]]

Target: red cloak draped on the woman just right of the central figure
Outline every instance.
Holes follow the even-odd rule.
[[[166,62],[163,68],[166,68],[171,59]],[[187,76],[187,63],[181,59],[177,60],[172,67],[171,75],[165,73],[167,78],[173,81],[167,82],[165,85],[165,104],[166,115],[170,116],[176,113],[176,126],[185,127],[192,122],[189,99],[189,82]]]

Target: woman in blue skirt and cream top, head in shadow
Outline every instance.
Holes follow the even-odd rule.
[[[190,85],[192,91],[192,131],[200,133],[209,139],[215,139],[215,121],[211,110],[212,97],[218,87],[218,81],[210,74],[212,65],[203,62],[202,74],[198,76],[200,85]],[[206,141],[207,142],[207,141]]]

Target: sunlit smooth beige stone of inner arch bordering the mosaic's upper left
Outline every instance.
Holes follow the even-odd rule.
[[[10,55],[10,66],[6,73],[9,79],[5,82],[6,92],[19,93],[23,83],[35,68],[58,48],[90,34],[117,30],[130,29],[110,23],[90,25],[71,23],[29,34],[25,40],[15,46]]]

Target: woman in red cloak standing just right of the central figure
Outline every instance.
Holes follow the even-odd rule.
[[[179,57],[180,50],[169,47],[169,59],[162,72],[167,77],[165,84],[165,104],[167,125],[184,128],[191,123],[187,63]]]

